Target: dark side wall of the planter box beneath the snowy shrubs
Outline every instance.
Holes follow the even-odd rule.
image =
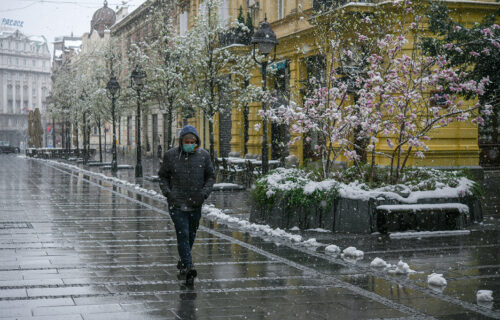
[[[381,213],[377,207],[381,205],[398,205],[400,203],[394,199],[383,197],[362,199],[338,198],[328,207],[321,204],[311,206],[290,206],[288,208],[287,199],[277,195],[273,204],[261,206],[251,202],[250,221],[268,224],[271,227],[300,229],[323,228],[334,232],[349,232],[357,234],[369,234],[372,232],[404,231],[408,229],[418,230],[450,230],[462,229],[474,222],[482,221],[483,214],[479,199],[473,196],[460,198],[429,198],[420,199],[416,204],[442,204],[461,203],[469,208],[468,214],[442,211],[422,211],[401,213],[392,215],[387,222],[388,225],[380,228],[382,220]],[[387,219],[387,217],[385,217]],[[377,221],[379,223],[377,223]],[[386,223],[386,224],[387,224]],[[380,228],[380,230],[379,230]]]

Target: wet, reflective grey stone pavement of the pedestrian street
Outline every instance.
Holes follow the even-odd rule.
[[[218,192],[210,201],[245,216],[245,199]],[[199,278],[188,288],[176,278],[165,203],[51,162],[0,155],[0,319],[500,319],[500,222],[489,208],[470,235],[301,233],[355,246],[365,253],[359,261],[203,218],[193,248]],[[417,273],[370,268],[375,257],[402,259]],[[432,272],[448,285],[430,288]],[[478,290],[492,290],[494,301],[478,304]]]

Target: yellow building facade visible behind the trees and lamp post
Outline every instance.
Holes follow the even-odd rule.
[[[187,7],[184,13],[179,15],[178,23],[181,29],[183,26],[189,25],[190,18],[198,12],[199,4],[200,1],[196,0],[189,2],[189,7]],[[234,20],[238,15],[238,9],[242,6],[245,16],[247,12],[251,14],[256,28],[267,16],[267,20],[270,22],[279,41],[276,62],[273,67],[276,72],[274,76],[268,79],[267,88],[277,93],[280,99],[295,99],[295,101],[300,101],[301,89],[304,88],[304,83],[308,79],[308,73],[318,72],[318,70],[312,70],[314,67],[311,64],[317,58],[318,51],[310,19],[315,11],[314,9],[324,4],[328,4],[328,1],[261,0],[257,2],[248,0],[244,2],[241,0],[225,0],[222,2],[222,8],[219,10],[219,13],[223,17],[229,16],[231,20]],[[352,11],[366,11],[370,10],[371,7],[379,5],[383,4],[342,2],[344,10]],[[494,0],[453,1],[449,2],[449,6],[456,9],[456,14],[461,23],[469,24],[480,21],[483,15],[497,10],[499,3]],[[250,50],[250,48],[247,50]],[[253,76],[252,83],[260,85],[261,75],[259,70],[254,70]],[[261,153],[262,129],[259,131],[254,130],[254,125],[261,123],[261,118],[258,115],[260,108],[260,103],[253,103],[250,106],[248,154]],[[244,155],[243,122],[242,111],[233,108],[231,113],[230,151],[239,153],[240,155]],[[202,139],[207,141],[207,130],[203,129],[206,128],[206,120],[203,119],[203,115],[198,114],[196,120],[191,121],[191,123],[200,129]],[[223,120],[217,117],[215,120],[215,142],[216,150],[219,151],[218,154],[222,153],[220,152],[222,143],[220,132],[223,131],[221,130],[221,123],[223,123]],[[279,130],[279,128],[273,128],[272,125],[269,125],[268,142],[270,158],[277,156],[274,154],[274,151],[277,151],[279,148],[279,146],[271,142],[272,138],[274,138],[272,136],[273,131],[276,130]],[[479,164],[477,125],[470,122],[452,123],[446,128],[432,132],[431,137],[432,140],[428,144],[430,150],[426,152],[425,159],[410,157],[408,165],[475,166]],[[380,140],[382,141],[382,139]],[[379,143],[377,150],[388,151],[388,146],[386,143]],[[290,154],[297,156],[301,162],[305,158],[310,157],[310,150],[302,143],[302,140],[291,146],[289,151]],[[377,159],[377,162],[387,164],[385,158]]]

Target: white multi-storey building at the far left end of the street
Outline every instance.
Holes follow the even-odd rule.
[[[51,88],[50,52],[43,37],[0,32],[0,141],[26,142],[28,112],[44,114]]]

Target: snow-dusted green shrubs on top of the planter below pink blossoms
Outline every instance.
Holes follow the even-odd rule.
[[[319,180],[317,175],[301,169],[278,168],[257,180],[252,196],[260,205],[273,204],[280,197],[287,198],[289,207],[296,207],[317,203],[325,206],[338,196],[360,200],[384,197],[416,203],[419,199],[460,198],[481,193],[479,185],[461,170],[408,168],[399,184],[387,184],[381,178],[371,187],[357,180],[356,172],[351,168],[339,170],[332,179]],[[384,175],[384,169],[379,174]]]

